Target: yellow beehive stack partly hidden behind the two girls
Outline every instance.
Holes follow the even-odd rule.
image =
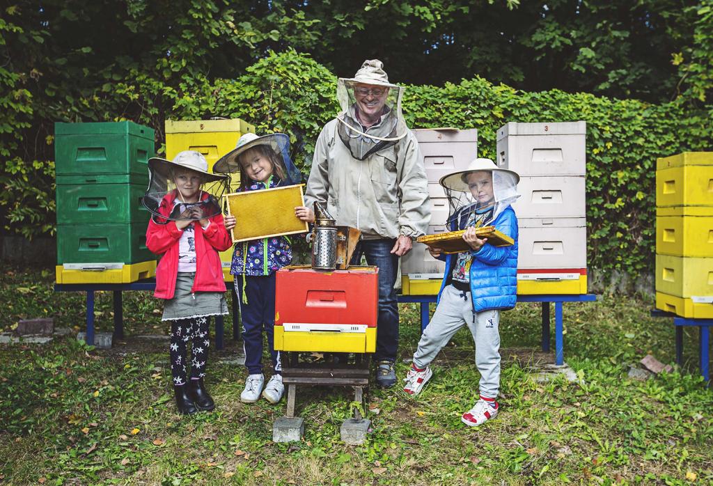
[[[212,172],[213,165],[220,157],[235,148],[237,139],[244,133],[255,133],[255,126],[239,118],[232,120],[166,120],[166,158],[173,159],[182,150],[196,150],[205,156],[208,170]],[[240,184],[240,178],[232,176],[231,192]],[[232,248],[220,252],[223,277],[231,281],[230,262]]]

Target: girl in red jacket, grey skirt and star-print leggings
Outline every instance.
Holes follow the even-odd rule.
[[[202,190],[212,182],[225,190],[227,177],[208,173],[200,152],[185,150],[173,161],[148,161],[151,181],[143,202],[153,213],[146,246],[160,255],[156,291],[170,321],[170,360],[179,413],[215,408],[205,389],[210,316],[227,314],[219,251],[231,247],[216,198]],[[166,192],[169,185],[175,189]],[[213,191],[215,193],[215,191]],[[162,196],[163,194],[163,196]],[[220,195],[219,195],[220,196]],[[190,379],[186,346],[192,345]]]

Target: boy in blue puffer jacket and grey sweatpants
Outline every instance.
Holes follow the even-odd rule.
[[[421,335],[404,391],[417,395],[432,376],[429,364],[464,325],[473,334],[476,366],[481,373],[476,404],[461,420],[471,427],[498,415],[500,386],[500,311],[515,306],[518,267],[518,219],[511,203],[518,198],[520,177],[498,168],[490,159],[476,159],[468,170],[441,178],[453,207],[454,193],[462,193],[460,205],[448,218],[449,229],[465,229],[463,239],[471,249],[457,254],[442,254],[429,247],[431,256],[446,262],[438,305]],[[464,197],[463,197],[464,196]],[[488,239],[478,238],[476,228],[494,226],[511,237],[515,244],[493,247]]]

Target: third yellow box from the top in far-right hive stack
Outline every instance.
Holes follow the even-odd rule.
[[[677,297],[713,296],[713,258],[657,254],[656,291]]]

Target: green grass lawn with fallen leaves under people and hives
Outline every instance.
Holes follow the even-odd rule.
[[[54,316],[56,326],[80,329],[83,296],[55,294],[52,281],[48,269],[4,269],[0,328]],[[0,345],[0,482],[713,484],[713,390],[695,368],[697,333],[686,331],[680,373],[627,378],[628,364],[648,352],[673,361],[673,325],[652,319],[652,306],[628,296],[565,304],[565,360],[581,385],[563,377],[538,383],[528,373],[528,353],[539,350],[538,304],[504,313],[502,346],[517,348],[520,359],[503,363],[501,413],[482,428],[460,421],[478,386],[472,338],[462,329],[417,398],[398,386],[371,388],[374,431],[361,446],[339,440],[349,416],[346,388],[299,389],[304,440],[275,444],[272,421],[284,414],[284,400],[240,403],[242,366],[210,361],[207,385],[217,408],[182,417],[174,411],[163,344],[125,353],[73,338]],[[98,294],[98,329],[111,330],[111,309],[111,294]],[[166,334],[159,309],[148,293],[126,293],[125,332]],[[411,357],[418,338],[416,305],[401,305],[402,358]],[[399,378],[408,366],[399,362]]]

